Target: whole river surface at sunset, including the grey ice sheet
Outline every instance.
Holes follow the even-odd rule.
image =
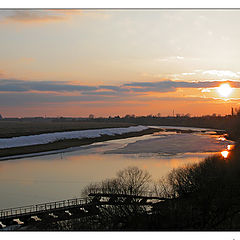
[[[1,161],[0,209],[80,197],[89,183],[114,177],[129,166],[146,169],[158,179],[173,168],[197,163],[232,144],[212,131],[197,130],[160,132]]]

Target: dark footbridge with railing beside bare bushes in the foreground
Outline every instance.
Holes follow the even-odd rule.
[[[0,228],[21,224],[56,222],[99,214],[103,205],[151,206],[167,200],[149,194],[144,196],[92,192],[87,198],[74,198],[0,210]]]

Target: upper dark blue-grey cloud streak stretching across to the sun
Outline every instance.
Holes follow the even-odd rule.
[[[226,82],[226,81],[224,81]],[[232,87],[240,88],[240,81],[227,81]],[[0,79],[0,92],[53,92],[73,93],[82,95],[127,96],[145,94],[149,92],[175,92],[178,88],[208,89],[218,87],[223,81],[158,81],[158,82],[132,82],[123,85],[89,86],[72,84],[61,81],[24,81],[17,79]]]

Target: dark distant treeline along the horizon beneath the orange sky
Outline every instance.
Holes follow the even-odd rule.
[[[214,128],[223,129],[229,133],[229,137],[233,140],[240,138],[240,115],[208,115],[201,117],[190,117],[189,115],[177,115],[175,117],[161,117],[161,116],[135,116],[126,115],[120,116],[109,116],[108,118],[98,117],[95,118],[91,115],[89,118],[4,118],[1,121],[18,121],[18,122],[92,122],[92,123],[129,123],[131,125],[155,125],[155,126],[185,126],[185,127],[199,127],[199,128]]]

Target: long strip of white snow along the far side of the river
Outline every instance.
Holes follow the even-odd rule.
[[[114,136],[116,134],[124,134],[130,132],[140,132],[148,129],[147,126],[133,126],[127,128],[105,128],[105,129],[91,129],[80,130],[71,132],[56,132],[56,133],[44,133],[39,135],[12,137],[12,138],[0,138],[0,149],[32,146],[38,144],[47,144],[64,139],[83,139],[83,138],[96,138],[102,135]]]

